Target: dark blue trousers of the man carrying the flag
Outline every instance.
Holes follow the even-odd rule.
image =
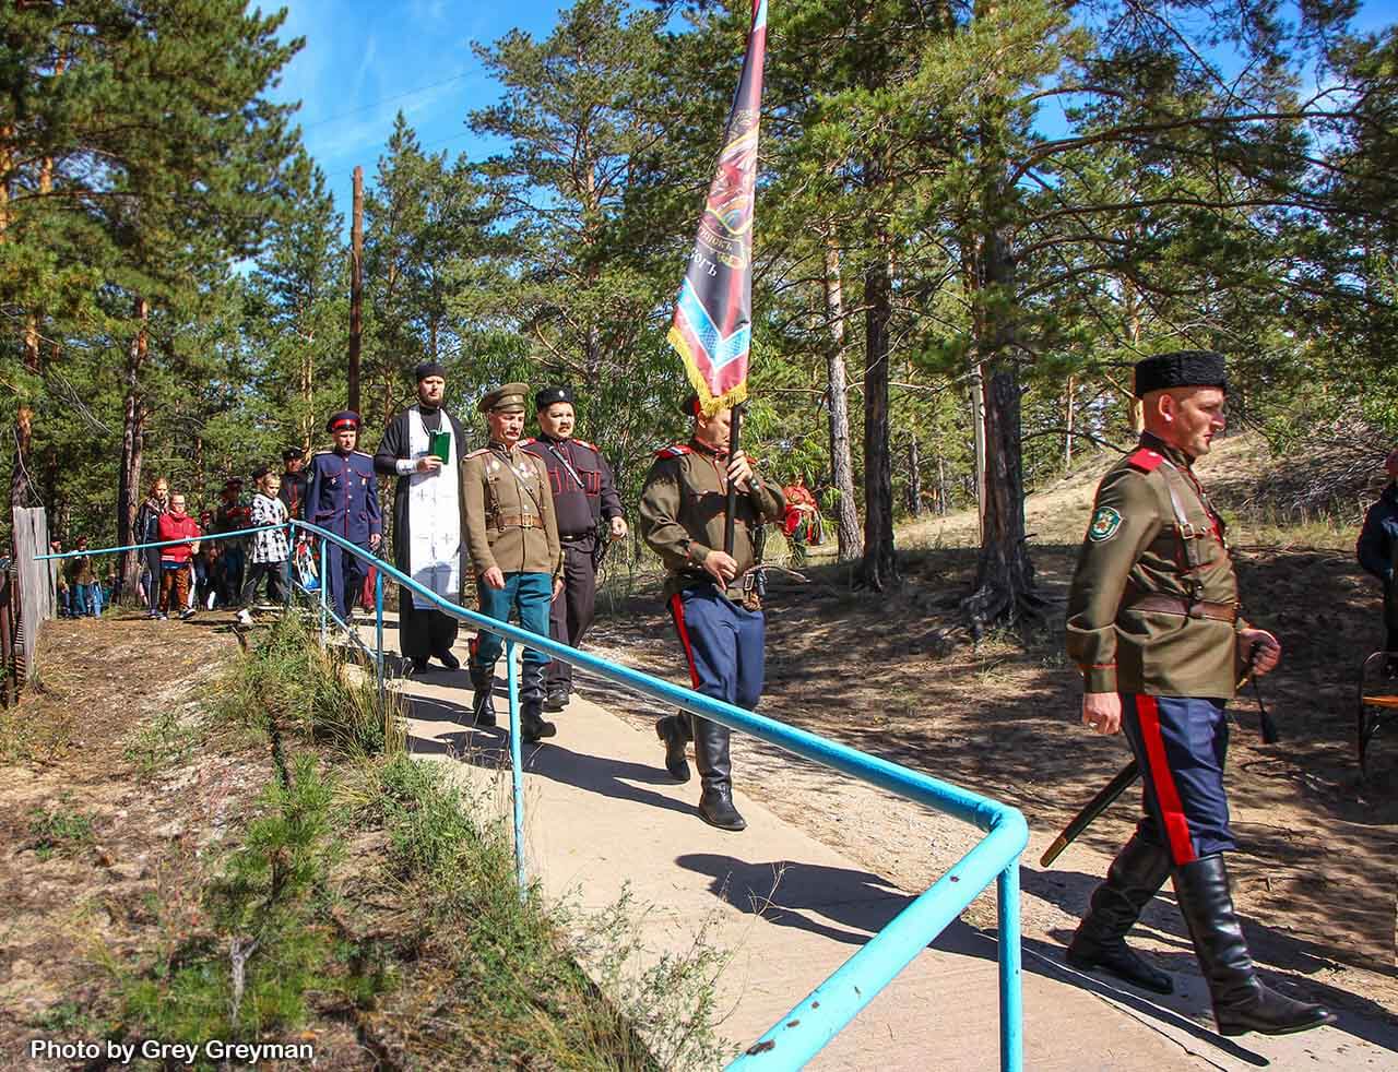
[[[745,611],[713,584],[696,584],[670,598],[670,614],[695,692],[749,711],[756,707],[765,669],[762,611]]]

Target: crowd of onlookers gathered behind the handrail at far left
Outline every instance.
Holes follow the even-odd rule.
[[[271,602],[289,597],[292,546],[285,528],[273,528],[226,539],[204,537],[238,533],[261,526],[285,526],[301,517],[306,492],[301,470],[305,454],[282,451],[284,472],[257,465],[253,493],[245,496],[240,477],[229,477],[218,502],[197,516],[183,492],[171,491],[157,477],[136,514],[133,542],[165,544],[140,551],[140,598],[152,619],[172,615],[190,619],[199,609],[238,609],[250,621],[250,607],[266,584]],[[62,552],[57,539],[52,551]],[[87,549],[80,537],[77,551]],[[110,565],[89,555],[64,560],[57,574],[59,614],[64,618],[96,618],[110,594]]]

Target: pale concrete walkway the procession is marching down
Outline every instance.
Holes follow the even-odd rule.
[[[373,644],[372,626],[362,629]],[[396,630],[387,626],[391,650]],[[397,679],[411,699],[410,749],[449,763],[509,813],[507,738],[470,727],[463,669]],[[436,664],[433,662],[433,667]],[[507,721],[503,665],[496,706]],[[727,950],[717,976],[719,1033],[731,1052],[755,1041],[910,900],[740,790],[748,819],[723,833],[695,815],[698,780],[671,781],[653,734],[575,696],[549,716],[558,737],[526,748],[526,851],[549,899],[601,910],[624,893],[640,911],[651,962],[703,941]],[[990,894],[994,896],[994,888]],[[1037,946],[1037,948],[1036,948]],[[1197,980],[1195,980],[1197,983]],[[1398,1068],[1387,1037],[1336,1030],[1289,1038],[1223,1040],[1199,995],[1176,1008],[1061,966],[1043,943],[1025,948],[1028,1069]],[[1183,1008],[1180,1008],[1183,1005]],[[953,924],[818,1057],[819,1069],[998,1068],[994,935]]]

